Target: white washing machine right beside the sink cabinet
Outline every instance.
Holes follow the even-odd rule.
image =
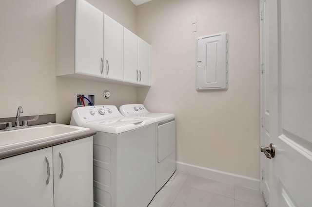
[[[147,207],[156,188],[155,121],[114,105],[79,107],[71,125],[94,129],[94,207]],[[78,173],[78,172],[77,172]]]

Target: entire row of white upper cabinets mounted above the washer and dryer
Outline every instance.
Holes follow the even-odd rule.
[[[57,6],[57,76],[150,86],[150,45],[85,0]]]

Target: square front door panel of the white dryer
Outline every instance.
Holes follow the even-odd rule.
[[[176,150],[176,121],[174,119],[158,124],[158,157],[160,163]]]

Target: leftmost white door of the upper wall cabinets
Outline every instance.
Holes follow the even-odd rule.
[[[76,1],[75,73],[103,77],[103,21],[103,12]]]

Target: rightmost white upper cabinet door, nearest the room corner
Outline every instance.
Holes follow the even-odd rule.
[[[150,86],[150,45],[138,38],[139,84]]]

